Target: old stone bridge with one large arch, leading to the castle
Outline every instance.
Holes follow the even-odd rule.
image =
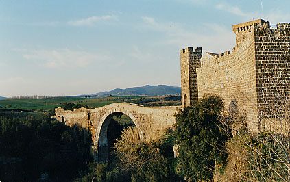
[[[165,129],[173,127],[175,123],[174,114],[178,106],[170,107],[144,107],[132,103],[112,103],[95,109],[74,109],[73,111],[56,108],[56,116],[60,122],[66,125],[80,125],[90,129],[94,144],[94,151],[104,156],[108,148],[101,151],[100,148],[108,146],[108,125],[112,116],[125,114],[131,118],[139,131],[140,139],[143,141],[158,138]]]

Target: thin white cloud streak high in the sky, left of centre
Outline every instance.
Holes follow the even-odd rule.
[[[92,26],[100,21],[112,21],[112,20],[117,20],[117,16],[115,15],[90,16],[88,18],[80,20],[69,21],[67,24],[72,26]]]

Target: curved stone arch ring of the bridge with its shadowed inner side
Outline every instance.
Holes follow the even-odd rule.
[[[98,152],[98,158],[99,161],[106,161],[108,160],[108,126],[110,125],[110,120],[112,116],[115,114],[125,114],[127,115],[132,122],[134,122],[134,125],[136,126],[136,129],[139,131],[139,137],[140,140],[144,140],[144,132],[143,129],[141,129],[140,124],[138,123],[137,118],[132,114],[132,112],[128,112],[126,110],[115,108],[110,109],[103,116],[101,116],[99,125],[97,126],[97,133],[96,141],[97,142],[97,152]]]

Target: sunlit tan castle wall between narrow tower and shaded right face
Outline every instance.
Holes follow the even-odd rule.
[[[202,57],[197,68],[198,97],[222,96],[226,110],[235,116],[246,112],[248,126],[258,132],[254,27],[236,34],[239,38],[232,53]]]

